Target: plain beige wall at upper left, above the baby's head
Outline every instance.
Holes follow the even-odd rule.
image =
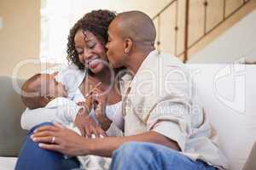
[[[40,0],[0,0],[0,75],[10,76],[24,59],[38,59],[40,50]],[[38,66],[24,65],[19,77],[38,71]]]

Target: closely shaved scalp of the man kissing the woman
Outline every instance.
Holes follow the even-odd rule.
[[[124,12],[118,14],[113,22],[116,22],[121,37],[130,37],[134,42],[154,46],[156,31],[147,14],[140,11]]]

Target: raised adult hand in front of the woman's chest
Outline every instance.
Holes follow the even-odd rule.
[[[108,94],[102,95],[101,88],[96,88],[93,92],[93,103],[95,105],[96,119],[101,124],[104,131],[107,131],[112,121],[106,116],[106,106],[108,104]]]

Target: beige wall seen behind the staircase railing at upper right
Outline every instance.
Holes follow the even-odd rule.
[[[248,0],[247,0],[248,1]],[[223,24],[218,26],[214,31],[212,28],[218,25],[224,17],[224,1],[223,0],[208,0],[207,11],[204,6],[205,0],[193,0],[189,1],[189,36],[188,54],[199,52],[201,49],[207,47],[207,45],[214,39],[219,37],[224,31],[228,31],[231,26],[234,26],[236,22],[244,18],[253,9],[256,8],[256,0],[250,0],[243,8],[232,15],[229,19],[225,20]],[[240,7],[243,0],[226,0],[225,4],[225,17],[230,15]],[[157,27],[158,40],[160,46],[158,47],[162,52],[168,54],[181,54],[184,50],[184,24],[185,24],[185,4],[186,0],[178,0],[166,9],[166,11],[160,14],[160,18],[154,20],[154,24]],[[204,15],[206,12],[207,22],[204,26]],[[176,18],[177,17],[177,18]],[[160,22],[160,25],[158,24]],[[176,33],[177,26],[177,33]],[[206,37],[197,42],[202,36],[204,31],[211,31]],[[176,47],[175,47],[176,44]],[[180,57],[183,59],[183,56]],[[217,61],[217,60],[216,60]],[[218,62],[221,62],[218,60]]]

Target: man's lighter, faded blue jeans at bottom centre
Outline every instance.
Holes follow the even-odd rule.
[[[187,156],[160,144],[130,142],[113,152],[112,170],[216,170],[203,161]]]

